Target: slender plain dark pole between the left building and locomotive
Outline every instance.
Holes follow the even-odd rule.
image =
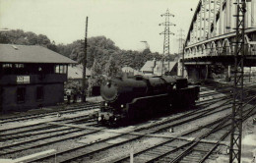
[[[87,101],[87,91],[86,91],[86,77],[87,77],[87,32],[88,32],[88,17],[86,22],[86,33],[85,33],[85,55],[83,59],[83,81],[82,81],[82,100]]]

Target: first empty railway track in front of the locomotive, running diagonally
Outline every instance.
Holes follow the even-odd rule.
[[[217,109],[220,109],[220,106],[212,107],[210,110],[213,112],[212,114],[215,114],[217,112],[216,111]],[[227,109],[227,108],[225,108],[225,109]],[[91,157],[96,152],[111,149],[117,145],[122,145],[124,143],[129,143],[131,141],[134,141],[138,138],[142,138],[145,135],[156,134],[156,133],[162,132],[164,130],[167,130],[169,128],[173,128],[174,126],[182,125],[182,124],[197,120],[199,118],[203,118],[203,117],[211,114],[210,110],[205,109],[205,110],[190,111],[189,113],[182,115],[182,116],[177,116],[174,119],[171,119],[171,120],[168,120],[165,122],[161,122],[161,123],[158,123],[155,125],[150,125],[148,127],[137,129],[134,131],[135,134],[131,134],[130,132],[124,133],[124,134],[119,134],[118,136],[111,136],[111,137],[108,137],[105,139],[101,139],[92,144],[81,145],[77,148],[59,151],[56,153],[57,160],[58,160],[58,162],[71,162],[71,161],[80,159],[81,157],[82,158]],[[222,109],[220,109],[220,110],[222,110]],[[109,143],[107,143],[107,141],[114,140],[117,138],[119,138],[119,139],[123,138],[125,140],[123,140],[122,142],[120,142],[118,144],[109,145]],[[94,149],[94,150],[92,151],[92,149]],[[83,153],[83,154],[78,155],[78,153]],[[67,155],[69,155],[68,159],[67,159]],[[30,161],[32,161],[32,162],[41,162],[41,161],[50,162],[54,158],[55,158],[55,155],[48,155],[48,156],[44,156],[41,158],[30,160]]]

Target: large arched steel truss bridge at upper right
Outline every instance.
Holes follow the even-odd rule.
[[[184,65],[190,78],[208,78],[209,65],[234,63],[236,0],[200,0],[184,46]],[[244,66],[256,66],[256,0],[246,1]],[[182,62],[182,59],[181,59]]]

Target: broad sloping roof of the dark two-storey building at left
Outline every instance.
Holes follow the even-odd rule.
[[[36,45],[0,44],[0,62],[77,64],[59,53]]]

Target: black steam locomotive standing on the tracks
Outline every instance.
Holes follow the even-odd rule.
[[[97,122],[113,126],[152,117],[170,108],[187,108],[199,98],[199,89],[199,86],[189,86],[187,79],[170,76],[104,81],[100,86],[104,101]]]

